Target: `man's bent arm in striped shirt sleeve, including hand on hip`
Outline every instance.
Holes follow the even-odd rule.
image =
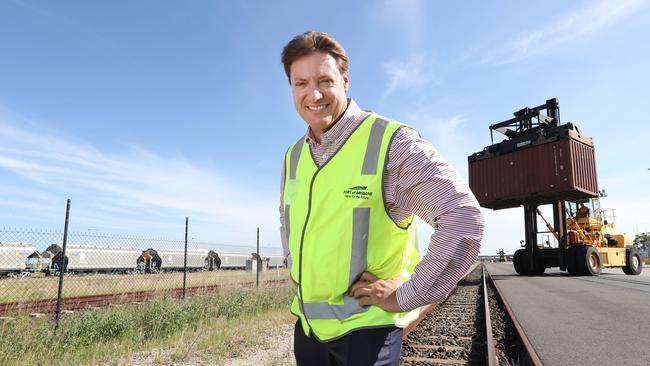
[[[396,286],[387,283],[395,280],[360,281],[350,294],[361,305],[389,311],[439,303],[478,256],[484,232],[478,203],[431,143],[410,128],[400,129],[393,140],[383,183],[388,211],[395,221],[414,213],[433,226],[435,233],[409,281],[395,291]]]

